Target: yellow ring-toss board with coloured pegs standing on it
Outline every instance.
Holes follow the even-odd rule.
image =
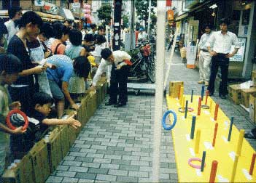
[[[208,105],[212,101],[212,115],[210,109],[201,108],[201,115],[198,113],[198,99],[200,96],[193,97],[193,103],[190,102],[190,95],[184,95],[185,99],[189,101],[188,107],[193,107],[194,111],[187,113],[179,112],[179,100],[171,98],[167,95],[168,109],[174,110],[177,113],[177,123],[174,129],[171,130],[174,139],[175,158],[177,162],[177,172],[179,182],[209,182],[212,161],[217,160],[217,174],[215,182],[230,182],[233,165],[236,157],[236,150],[238,145],[239,131],[233,125],[233,130],[228,142],[228,131],[230,126],[230,119],[222,112],[219,107],[217,121],[214,121],[215,102],[208,97]],[[205,97],[202,105],[205,104]],[[192,117],[196,116],[194,138],[190,139],[190,131],[192,124]],[[171,117],[173,121],[173,117]],[[234,118],[236,121],[236,118]],[[242,123],[243,121],[239,121]],[[214,137],[215,123],[218,123],[217,137],[214,147],[212,147],[212,140]],[[201,130],[201,139],[199,144],[198,154],[195,153],[195,139],[196,131]],[[206,166],[203,172],[200,169],[192,168],[188,165],[190,158],[202,158],[203,151],[206,151]],[[238,157],[238,164],[236,169],[236,176],[234,182],[256,182],[256,170],[252,176],[249,175],[249,168],[252,160],[252,154],[255,152],[244,139],[241,156]],[[201,165],[197,161],[193,161],[195,165]],[[256,168],[256,167],[255,167]]]

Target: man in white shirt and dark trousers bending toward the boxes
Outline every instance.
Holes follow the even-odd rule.
[[[122,107],[128,102],[127,97],[127,81],[128,81],[128,66],[132,65],[131,56],[124,51],[114,51],[110,49],[102,49],[101,63],[98,70],[93,77],[93,86],[91,90],[95,90],[97,81],[101,78],[102,73],[106,70],[108,65],[112,65],[110,88],[109,88],[109,102],[105,105],[115,105],[115,107]],[[117,95],[119,94],[118,102]]]

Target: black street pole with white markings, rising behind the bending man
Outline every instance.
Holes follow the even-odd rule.
[[[122,0],[114,2],[114,36],[113,50],[120,50],[120,33],[121,33],[121,15],[122,15]]]

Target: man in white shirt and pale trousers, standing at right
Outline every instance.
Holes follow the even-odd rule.
[[[212,55],[208,52],[206,47],[206,42],[212,36],[212,25],[204,25],[203,35],[198,44],[198,57],[199,57],[199,74],[200,79],[198,84],[204,84],[205,86],[209,85],[209,76],[210,76],[210,64],[212,60]]]

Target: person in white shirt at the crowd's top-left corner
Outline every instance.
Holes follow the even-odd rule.
[[[9,41],[11,40],[12,36],[14,36],[19,31],[18,26],[15,26],[15,20],[20,19],[20,17],[22,16],[21,7],[10,7],[8,9],[8,15],[9,20],[4,23],[8,31],[7,44],[9,44]]]

